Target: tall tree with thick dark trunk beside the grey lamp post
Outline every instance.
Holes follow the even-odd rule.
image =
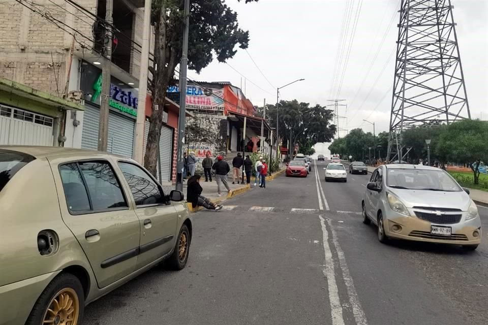
[[[253,0],[246,0],[246,3],[249,2]],[[153,0],[152,3],[151,22],[155,30],[155,46],[154,66],[149,69],[152,79],[148,82],[148,89],[153,95],[153,107],[149,118],[144,167],[153,175],[156,175],[166,90],[174,82],[174,71],[181,60],[184,3],[184,0]],[[248,47],[249,32],[239,28],[237,14],[222,0],[192,0],[189,19],[188,68],[197,73],[214,56],[219,62],[225,62],[235,55],[236,45],[241,49]]]

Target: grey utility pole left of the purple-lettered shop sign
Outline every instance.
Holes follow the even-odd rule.
[[[105,14],[105,37],[104,37],[104,52],[102,66],[102,96],[100,102],[100,117],[98,129],[98,150],[107,151],[108,143],[108,115],[110,102],[110,64],[112,64],[112,14],[113,14],[113,0],[106,2]]]

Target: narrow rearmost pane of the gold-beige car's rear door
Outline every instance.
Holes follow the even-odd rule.
[[[62,165],[59,167],[59,174],[63,181],[68,209],[72,212],[90,211],[88,193],[78,165],[76,163]]]

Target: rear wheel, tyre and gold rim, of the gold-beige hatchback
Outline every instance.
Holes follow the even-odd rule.
[[[76,276],[60,274],[42,291],[25,324],[79,324],[83,318],[84,297]]]

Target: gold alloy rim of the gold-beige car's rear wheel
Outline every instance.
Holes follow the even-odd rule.
[[[80,301],[76,291],[63,288],[54,296],[44,313],[43,324],[76,325],[80,313]]]

